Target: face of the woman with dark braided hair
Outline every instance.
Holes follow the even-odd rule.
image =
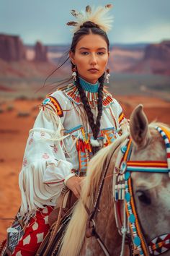
[[[84,35],[77,43],[75,53],[70,52],[79,76],[93,84],[104,73],[108,58],[107,43],[101,35]]]

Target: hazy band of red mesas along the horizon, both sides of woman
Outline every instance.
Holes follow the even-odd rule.
[[[60,61],[65,61],[68,49],[69,46],[47,47],[40,41],[35,46],[26,46],[17,35],[0,34],[0,75],[42,77],[48,67],[58,67]],[[170,40],[142,48],[113,46],[109,69],[110,72],[170,75]],[[60,74],[65,75],[68,70],[71,72],[69,61],[60,69]]]

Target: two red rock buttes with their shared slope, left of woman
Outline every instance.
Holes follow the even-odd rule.
[[[55,69],[48,61],[48,48],[37,42],[32,46],[32,59],[28,49],[17,35],[0,34],[0,76],[1,77],[47,77]]]

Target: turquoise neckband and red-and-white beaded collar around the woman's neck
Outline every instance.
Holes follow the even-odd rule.
[[[89,82],[86,82],[86,80],[82,79],[81,77],[79,77],[79,80],[81,86],[84,88],[86,97],[89,99],[89,104],[91,108],[96,108],[98,100],[99,82],[97,82],[96,84],[91,84]],[[77,105],[81,104],[79,90],[76,88],[76,85],[74,85],[74,83],[71,83],[70,85],[67,85],[66,87],[58,90],[62,90],[66,97],[73,101],[73,103],[76,103]],[[106,90],[103,90],[103,107],[109,106],[111,103],[113,103],[113,101],[114,99],[112,98],[112,95]]]

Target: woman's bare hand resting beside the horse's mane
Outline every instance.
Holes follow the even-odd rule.
[[[80,198],[82,179],[84,179],[84,177],[73,176],[66,182],[68,189],[71,189],[77,198]]]

